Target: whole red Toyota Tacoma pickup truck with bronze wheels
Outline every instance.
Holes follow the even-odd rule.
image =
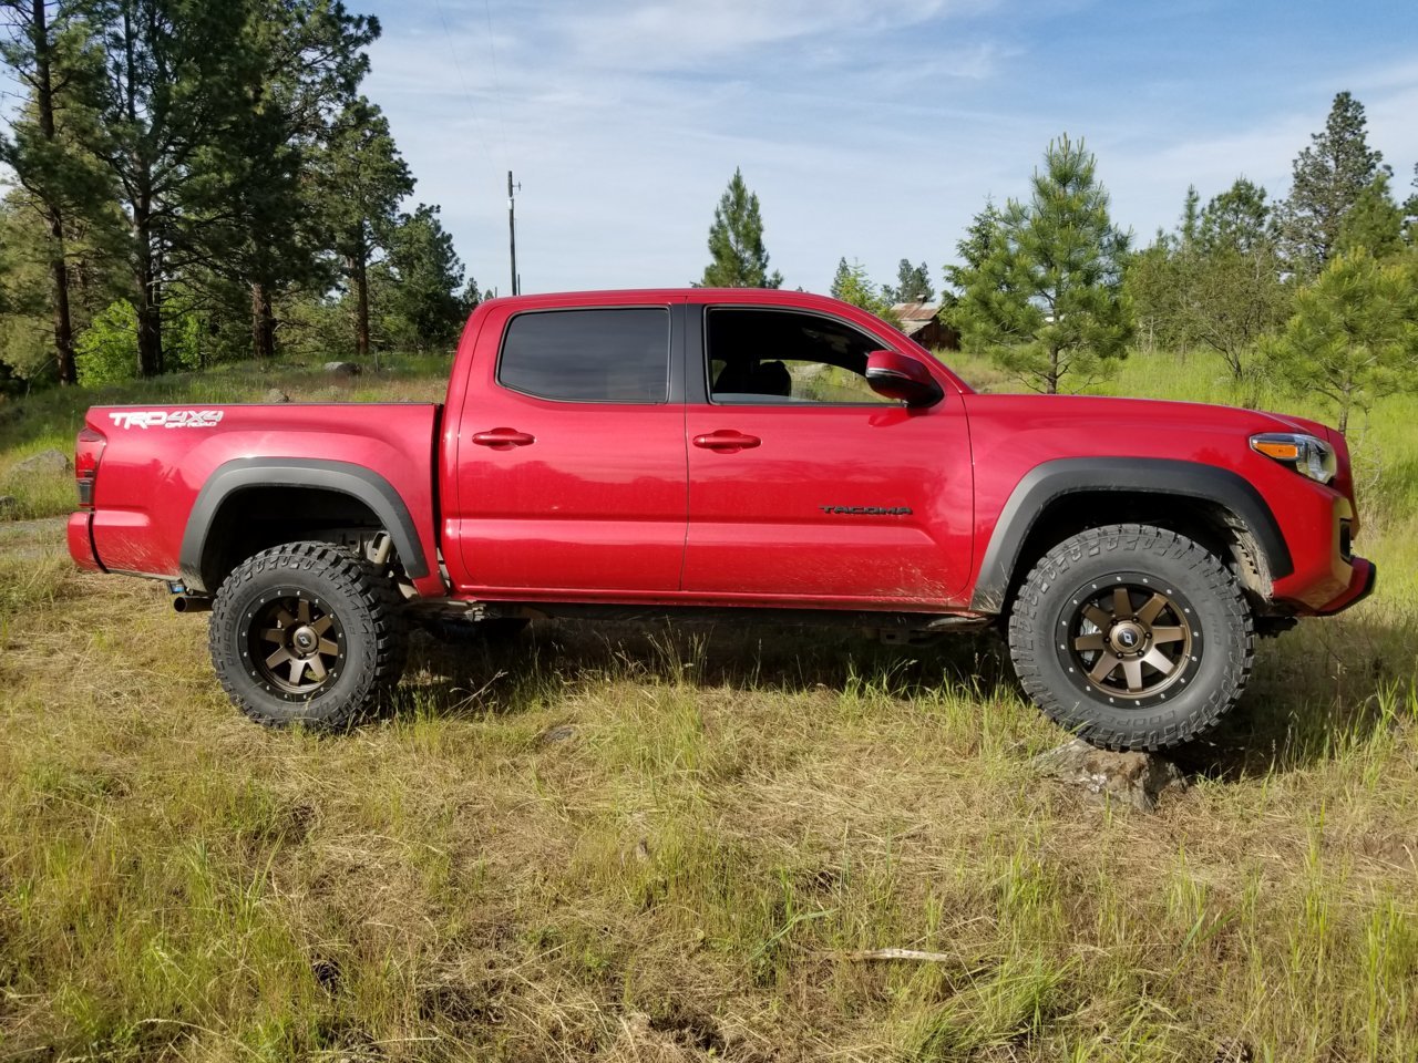
[[[442,405],[101,407],[75,465],[74,558],[210,608],[268,724],[376,707],[410,624],[712,612],[998,625],[1052,719],[1161,748],[1235,703],[1258,634],[1374,584],[1333,429],[977,394],[801,292],[493,299]]]

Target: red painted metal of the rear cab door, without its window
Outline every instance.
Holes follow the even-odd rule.
[[[465,387],[450,394],[442,533],[455,591],[501,598],[678,591],[683,405],[562,403],[501,387],[498,347],[516,309],[529,309],[526,300],[493,303],[469,330],[455,370]],[[532,442],[474,442],[496,428]]]

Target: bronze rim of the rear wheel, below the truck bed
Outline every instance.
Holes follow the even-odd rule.
[[[339,675],[345,629],[319,598],[278,592],[248,614],[247,629],[252,675],[271,693],[306,700]]]

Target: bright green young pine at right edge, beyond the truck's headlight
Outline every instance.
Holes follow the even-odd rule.
[[[1272,367],[1297,395],[1320,395],[1349,431],[1353,411],[1418,380],[1418,275],[1358,248],[1337,255],[1296,296],[1285,333],[1268,344]]]

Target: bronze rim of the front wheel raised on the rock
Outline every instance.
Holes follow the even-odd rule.
[[[1089,584],[1065,617],[1059,658],[1109,702],[1164,699],[1197,662],[1191,605],[1147,577]]]

